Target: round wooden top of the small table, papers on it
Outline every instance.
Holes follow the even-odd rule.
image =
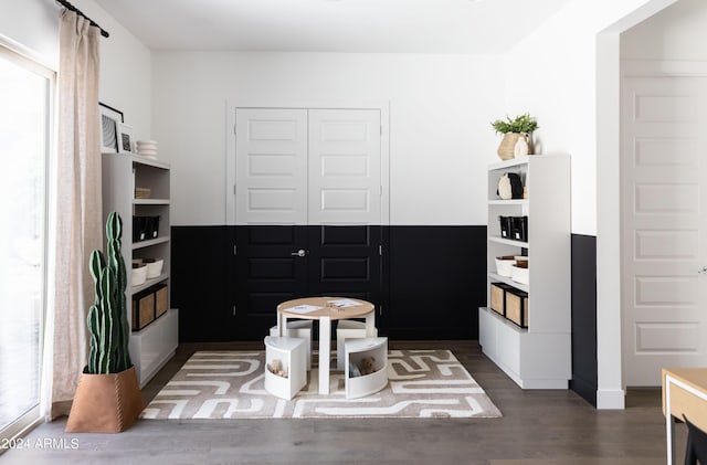
[[[314,308],[318,307],[318,308]],[[349,297],[305,297],[283,302],[277,306],[277,311],[292,318],[319,319],[349,319],[365,317],[376,307],[367,300]]]

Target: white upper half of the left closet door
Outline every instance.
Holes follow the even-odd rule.
[[[307,110],[236,108],[236,224],[307,224]]]

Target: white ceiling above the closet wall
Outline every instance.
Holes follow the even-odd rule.
[[[96,0],[154,50],[496,54],[572,0]]]

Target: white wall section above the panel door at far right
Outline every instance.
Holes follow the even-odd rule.
[[[622,33],[621,60],[707,61],[707,2],[679,0]]]

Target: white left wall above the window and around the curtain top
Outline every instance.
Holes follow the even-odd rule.
[[[110,33],[101,41],[101,101],[120,109],[137,137],[150,134],[150,52],[93,0],[76,8]],[[0,36],[59,67],[59,13],[51,0],[0,0]]]

